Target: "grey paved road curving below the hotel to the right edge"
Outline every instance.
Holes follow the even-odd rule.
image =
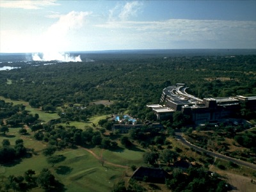
[[[235,159],[235,158],[232,158],[232,157],[224,156],[224,155],[218,154],[216,152],[211,152],[209,150],[205,150],[204,148],[200,148],[200,147],[197,147],[196,145],[193,145],[193,144],[189,143],[187,140],[185,140],[182,137],[182,132],[175,132],[175,136],[176,136],[177,140],[180,141],[180,143],[182,143],[183,145],[186,145],[188,147],[191,147],[191,148],[193,148],[193,149],[195,149],[199,152],[205,152],[209,156],[218,157],[220,159],[224,159],[224,160],[227,160],[227,161],[232,161],[233,163],[240,164],[240,165],[243,165],[243,166],[247,166],[249,168],[252,168],[253,170],[256,170],[256,164],[252,164],[252,163],[248,163],[246,161],[242,161],[242,160]]]

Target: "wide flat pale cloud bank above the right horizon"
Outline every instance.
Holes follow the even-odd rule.
[[[256,48],[256,22],[236,20],[111,21],[97,25],[119,31],[118,37],[127,44],[136,42],[144,47],[172,47],[186,42],[190,48]],[[124,40],[122,42],[124,42]],[[196,47],[197,46],[197,47]],[[188,47],[187,47],[188,48]]]

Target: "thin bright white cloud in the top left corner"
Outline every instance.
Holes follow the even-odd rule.
[[[22,8],[26,10],[37,10],[46,6],[60,5],[56,3],[56,0],[44,0],[44,1],[0,1],[1,8]]]

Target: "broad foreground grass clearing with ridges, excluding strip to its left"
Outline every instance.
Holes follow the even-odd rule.
[[[67,157],[61,165],[72,170],[68,174],[57,175],[67,191],[111,191],[125,171],[124,168],[102,166],[92,154],[83,149],[66,150],[60,154]]]

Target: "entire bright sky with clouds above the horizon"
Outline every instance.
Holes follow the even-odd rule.
[[[256,49],[256,1],[3,1],[0,52]]]

